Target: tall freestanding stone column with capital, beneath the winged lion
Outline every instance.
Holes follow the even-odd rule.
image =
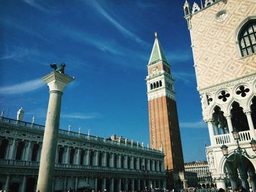
[[[42,142],[37,189],[51,191],[53,188],[53,171],[56,158],[56,147],[59,136],[59,118],[61,96],[64,88],[73,79],[59,72],[51,72],[42,78],[50,89],[48,112],[45,120],[45,134]]]

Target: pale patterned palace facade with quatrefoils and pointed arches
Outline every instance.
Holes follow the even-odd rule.
[[[191,36],[197,90],[208,124],[209,170],[218,188],[253,188],[256,158],[256,4],[254,0],[206,0],[190,7],[184,18]],[[238,131],[239,157],[232,131]],[[226,145],[229,155],[222,154]]]

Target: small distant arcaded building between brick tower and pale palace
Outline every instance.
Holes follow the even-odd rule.
[[[198,188],[211,188],[215,183],[211,178],[209,166],[207,161],[193,161],[184,164],[185,172],[194,172],[197,174],[197,180],[194,187]]]

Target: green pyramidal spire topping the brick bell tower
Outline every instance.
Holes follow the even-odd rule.
[[[165,53],[160,46],[160,43],[157,38],[157,32],[154,33],[154,46],[148,61],[148,65],[155,64],[158,61],[164,61],[166,64],[169,64],[167,58],[165,57]]]

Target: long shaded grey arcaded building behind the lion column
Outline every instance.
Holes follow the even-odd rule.
[[[0,117],[0,188],[36,190],[43,133],[44,126],[34,121]],[[164,153],[137,142],[60,129],[56,154],[53,191],[142,191],[166,185]]]

